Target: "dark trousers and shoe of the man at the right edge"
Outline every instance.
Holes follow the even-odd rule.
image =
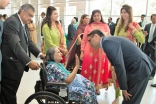
[[[155,50],[149,44],[147,44],[144,53],[148,55],[153,62],[155,62]],[[153,71],[151,72],[152,77],[155,76],[155,72],[156,72],[156,68],[154,68]]]

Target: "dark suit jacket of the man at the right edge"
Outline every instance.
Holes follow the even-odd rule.
[[[151,27],[151,23],[147,24],[145,26],[145,28],[144,28],[144,31],[147,31],[148,35],[145,38],[145,43],[144,43],[144,46],[143,46],[143,51],[145,51],[147,44],[149,44],[149,46],[151,46],[153,48],[154,48],[154,45],[155,45],[154,41],[156,41],[156,28],[155,28],[154,33],[153,33],[153,40],[150,43],[148,43],[148,37],[149,37],[149,33],[150,33],[150,27]]]

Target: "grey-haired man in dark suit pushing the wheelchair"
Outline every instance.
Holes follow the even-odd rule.
[[[39,49],[30,40],[26,26],[34,16],[35,9],[30,4],[21,6],[17,14],[10,16],[4,22],[2,35],[2,104],[17,104],[16,93],[20,85],[23,72],[39,69],[39,64],[28,56],[44,58]]]

